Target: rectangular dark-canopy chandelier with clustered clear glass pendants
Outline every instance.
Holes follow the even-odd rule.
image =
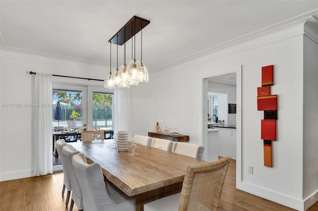
[[[108,41],[110,43],[110,71],[108,77],[104,80],[105,88],[130,88],[131,86],[138,86],[140,82],[149,81],[147,67],[143,64],[143,28],[149,23],[149,20],[134,16]],[[138,32],[141,32],[140,62],[136,59],[136,34]],[[130,38],[132,38],[132,60],[126,64],[126,42]],[[111,72],[111,44],[117,45],[117,67],[113,73]],[[119,69],[118,45],[124,45],[124,64]]]

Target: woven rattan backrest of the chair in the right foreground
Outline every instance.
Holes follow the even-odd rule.
[[[179,211],[219,210],[221,194],[231,158],[189,165],[185,173]]]

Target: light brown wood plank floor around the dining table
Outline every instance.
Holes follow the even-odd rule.
[[[0,182],[0,211],[68,211],[61,195],[63,172]],[[236,161],[232,160],[223,188],[221,211],[293,211],[288,207],[240,191]],[[73,211],[78,211],[74,206]],[[318,211],[318,202],[309,211]]]

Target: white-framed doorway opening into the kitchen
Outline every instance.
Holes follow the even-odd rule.
[[[205,160],[216,160],[219,156],[236,159],[236,180],[240,182],[242,71],[241,65],[231,69],[202,79],[202,146],[207,149],[203,155]],[[216,98],[217,104],[213,102]],[[210,114],[210,121],[207,114]],[[212,117],[211,114],[216,115]],[[216,133],[217,141],[208,140],[215,137]]]

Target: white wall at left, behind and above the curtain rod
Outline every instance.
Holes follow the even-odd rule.
[[[34,75],[29,71],[104,79],[103,65],[1,49],[0,104],[32,103]],[[54,81],[100,85],[102,82],[53,77]],[[31,107],[0,107],[0,181],[33,176]],[[48,140],[52,141],[52,140]]]

